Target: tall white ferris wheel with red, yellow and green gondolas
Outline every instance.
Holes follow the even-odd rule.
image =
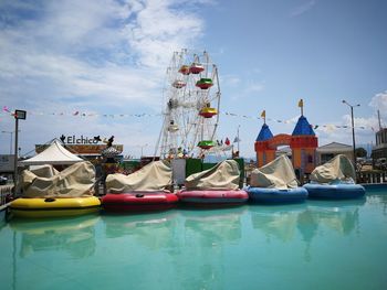
[[[220,86],[207,52],[175,52],[164,88],[160,157],[199,157],[218,146]]]

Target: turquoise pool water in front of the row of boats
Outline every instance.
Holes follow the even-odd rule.
[[[387,289],[387,190],[358,201],[1,222],[0,248],[3,290]]]

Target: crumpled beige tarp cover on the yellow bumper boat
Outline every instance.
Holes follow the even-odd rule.
[[[94,165],[85,161],[61,172],[52,165],[24,170],[19,186],[23,190],[23,197],[81,197],[93,195],[94,182]]]

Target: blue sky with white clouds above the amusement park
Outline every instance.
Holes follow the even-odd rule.
[[[320,146],[352,144],[343,99],[360,105],[356,143],[375,144],[377,110],[387,123],[386,12],[384,0],[1,0],[0,153],[22,109],[22,155],[62,133],[115,136],[125,155],[151,155],[181,49],[217,64],[217,135],[233,140],[239,128],[243,157],[262,110],[273,135],[292,133],[301,98]]]

